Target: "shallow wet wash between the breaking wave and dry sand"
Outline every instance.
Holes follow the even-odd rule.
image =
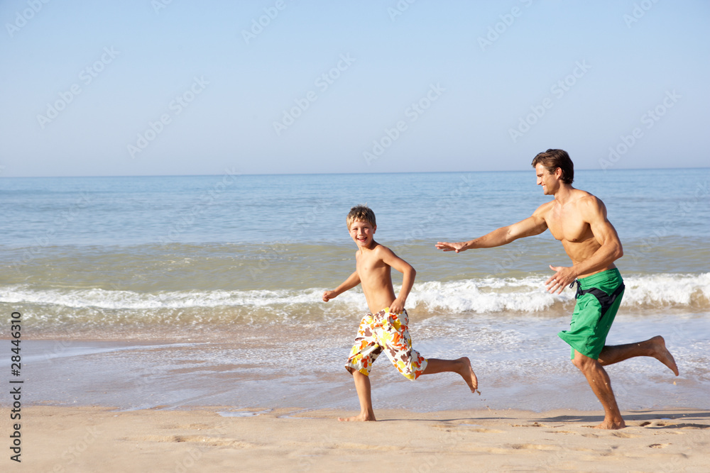
[[[23,340],[23,405],[116,406],[125,410],[199,406],[357,408],[351,376],[340,362],[347,350],[344,343],[325,340],[310,347],[307,370],[294,377],[294,369],[304,366],[302,351],[295,349],[295,341],[288,345],[282,342],[263,337],[236,343],[207,343],[199,338]],[[454,347],[454,343],[421,340],[418,347],[442,358],[468,351]],[[706,367],[695,367],[701,360],[689,357],[694,351],[676,353],[680,377],[674,377],[656,360],[645,358],[609,367],[619,406],[628,411],[707,407]],[[456,374],[410,382],[382,360],[371,373],[376,410],[520,408],[543,412],[572,408],[601,412],[584,377],[566,359],[564,347],[554,353],[541,351],[523,362],[511,359],[512,352],[481,350],[474,356],[466,355],[475,360],[480,395],[471,394]],[[7,402],[0,398],[0,406]]]

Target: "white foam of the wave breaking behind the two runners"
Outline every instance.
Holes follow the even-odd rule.
[[[545,291],[544,276],[524,278],[464,279],[449,282],[415,284],[408,306],[430,311],[454,313],[491,313],[501,311],[540,312],[553,306],[567,306],[574,300],[574,290],[562,294]],[[706,309],[710,307],[710,273],[655,274],[625,278],[626,306],[677,307]],[[6,286],[0,302],[37,304],[63,308],[99,310],[150,310],[183,308],[279,308],[285,306],[308,309],[322,306],[324,289],[253,290],[253,291],[109,291],[104,289],[33,289],[31,286]],[[348,291],[334,299],[327,308],[364,308],[359,290]]]

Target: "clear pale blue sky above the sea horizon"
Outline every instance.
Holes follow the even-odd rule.
[[[708,1],[3,1],[0,177],[706,167]]]

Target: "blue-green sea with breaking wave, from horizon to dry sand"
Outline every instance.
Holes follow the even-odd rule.
[[[605,202],[624,247],[608,343],[664,335],[682,372],[650,359],[610,367],[622,408],[707,407],[710,169],[578,170],[574,185]],[[320,296],[353,271],[345,216],[368,204],[376,240],[417,269],[415,347],[469,356],[484,393],[461,401],[454,375],[408,383],[380,360],[376,407],[599,406],[556,336],[574,294],[545,292],[548,265],[569,264],[549,233],[459,255],[434,247],[548,201],[532,169],[3,178],[0,196],[0,306],[23,314],[34,402],[356,408],[342,365],[364,296]],[[58,391],[62,369],[82,374]],[[115,389],[87,389],[97,377]]]

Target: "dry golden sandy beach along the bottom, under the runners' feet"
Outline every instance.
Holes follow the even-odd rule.
[[[264,408],[116,411],[30,406],[22,411],[26,472],[707,472],[710,411],[624,412],[628,427],[595,430],[600,413],[557,410],[349,411]],[[2,418],[2,432],[9,431]],[[9,443],[7,436],[6,443]],[[7,452],[7,450],[6,450]],[[9,467],[9,469],[6,469]]]

